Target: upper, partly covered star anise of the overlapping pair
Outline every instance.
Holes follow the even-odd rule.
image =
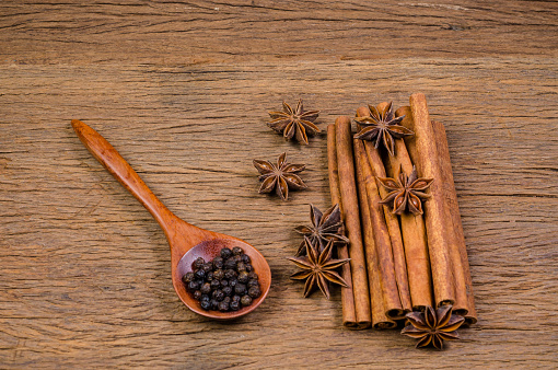
[[[349,239],[344,235],[344,226],[341,221],[341,211],[338,205],[329,207],[324,213],[313,205],[310,205],[310,220],[312,226],[298,227],[297,232],[307,236],[312,244],[319,245],[318,252],[322,252],[329,240],[334,243],[349,243]],[[297,256],[306,254],[306,243],[303,240],[297,252]]]

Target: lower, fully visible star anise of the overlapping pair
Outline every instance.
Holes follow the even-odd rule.
[[[312,244],[306,236],[304,236],[304,243],[306,243],[307,256],[288,258],[303,269],[302,271],[291,275],[291,278],[295,280],[306,280],[304,285],[304,297],[309,297],[317,285],[324,296],[329,299],[328,281],[347,287],[347,282],[335,269],[348,263],[350,258],[332,259],[333,240],[329,240],[322,253],[317,252],[317,245]]]

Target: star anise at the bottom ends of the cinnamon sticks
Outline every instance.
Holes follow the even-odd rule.
[[[437,311],[427,307],[425,313],[409,312],[406,317],[409,325],[403,328],[402,334],[419,339],[416,348],[432,345],[440,350],[443,349],[443,340],[460,339],[454,332],[465,321],[462,316],[452,315],[451,305],[442,305]]]

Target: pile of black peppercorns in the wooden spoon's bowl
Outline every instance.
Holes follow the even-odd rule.
[[[239,311],[261,294],[249,256],[239,246],[222,248],[210,262],[198,257],[191,268],[182,280],[206,311]]]

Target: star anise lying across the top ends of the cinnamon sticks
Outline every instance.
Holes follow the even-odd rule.
[[[379,112],[373,105],[369,105],[369,109],[370,116],[354,118],[362,126],[361,130],[354,135],[354,138],[370,141],[375,140],[374,148],[376,149],[380,147],[380,141],[383,141],[390,155],[394,155],[394,140],[415,135],[415,132],[399,125],[405,116],[394,117],[392,102],[382,112]]]

